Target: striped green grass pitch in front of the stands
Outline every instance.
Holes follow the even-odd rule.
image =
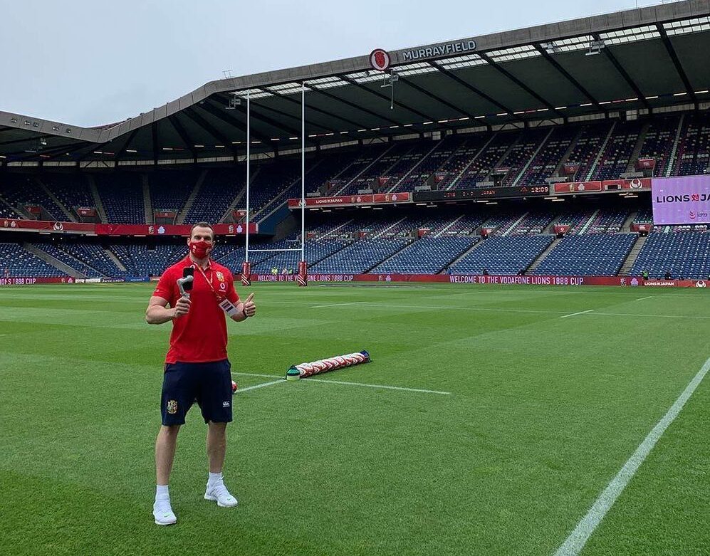
[[[236,394],[239,508],[202,499],[193,409],[169,528],[151,515],[170,330],[145,324],[151,286],[0,290],[1,554],[553,555],[710,356],[704,290],[250,289],[259,315],[229,323],[233,371],[373,362]],[[710,377],[583,556],[708,553],[709,407]]]

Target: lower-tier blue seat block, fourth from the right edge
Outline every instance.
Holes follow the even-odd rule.
[[[372,273],[437,274],[478,241],[477,237],[424,236],[392,258],[372,268]]]

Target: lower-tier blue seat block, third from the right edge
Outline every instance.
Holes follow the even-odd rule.
[[[449,274],[517,274],[552,243],[554,236],[490,237],[449,268]]]

